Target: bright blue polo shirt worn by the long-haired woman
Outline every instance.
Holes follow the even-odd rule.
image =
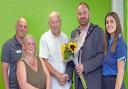
[[[126,62],[127,47],[123,38],[119,36],[114,52],[111,51],[112,42],[113,39],[111,38],[109,40],[108,50],[104,56],[103,76],[117,75],[117,62],[121,60]]]

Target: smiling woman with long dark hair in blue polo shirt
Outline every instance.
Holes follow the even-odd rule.
[[[127,47],[119,17],[109,12],[105,18],[105,55],[102,89],[125,89],[123,83]]]

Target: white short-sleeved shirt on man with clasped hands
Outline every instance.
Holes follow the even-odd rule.
[[[62,60],[61,45],[68,42],[68,37],[61,32],[59,37],[53,35],[51,30],[44,33],[40,39],[39,56],[48,59],[48,62],[58,72],[65,73],[66,63]],[[64,86],[59,84],[59,81],[52,76],[51,89],[69,89],[69,83]]]

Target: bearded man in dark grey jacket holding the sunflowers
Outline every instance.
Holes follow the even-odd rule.
[[[83,73],[88,89],[101,89],[103,64],[103,30],[89,21],[89,6],[82,2],[77,8],[79,27],[72,31],[71,38],[76,34],[82,37],[83,45],[79,51],[79,64],[67,63],[66,73],[72,80],[75,69],[75,89],[83,89],[79,74]]]

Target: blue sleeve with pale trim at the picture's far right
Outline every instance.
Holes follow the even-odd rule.
[[[116,53],[117,53],[117,61],[121,61],[121,60],[126,61],[127,48],[126,48],[126,44],[122,40],[119,40],[117,44]]]

